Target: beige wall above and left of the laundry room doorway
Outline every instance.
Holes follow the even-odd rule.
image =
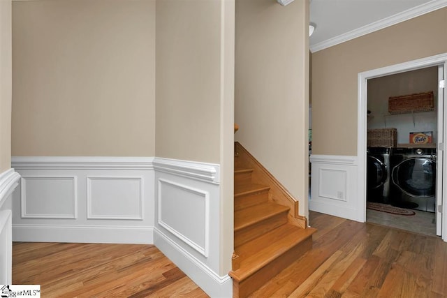
[[[312,154],[357,155],[358,73],[447,52],[447,8],[312,54]]]

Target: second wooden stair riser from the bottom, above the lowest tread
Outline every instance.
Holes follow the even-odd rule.
[[[241,230],[235,230],[235,248],[287,223],[287,212],[281,212]]]

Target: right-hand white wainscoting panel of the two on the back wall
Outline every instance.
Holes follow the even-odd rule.
[[[142,220],[142,177],[87,177],[87,218]]]

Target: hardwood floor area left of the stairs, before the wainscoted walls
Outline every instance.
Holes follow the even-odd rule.
[[[208,297],[153,245],[15,242],[13,284],[42,297]]]

